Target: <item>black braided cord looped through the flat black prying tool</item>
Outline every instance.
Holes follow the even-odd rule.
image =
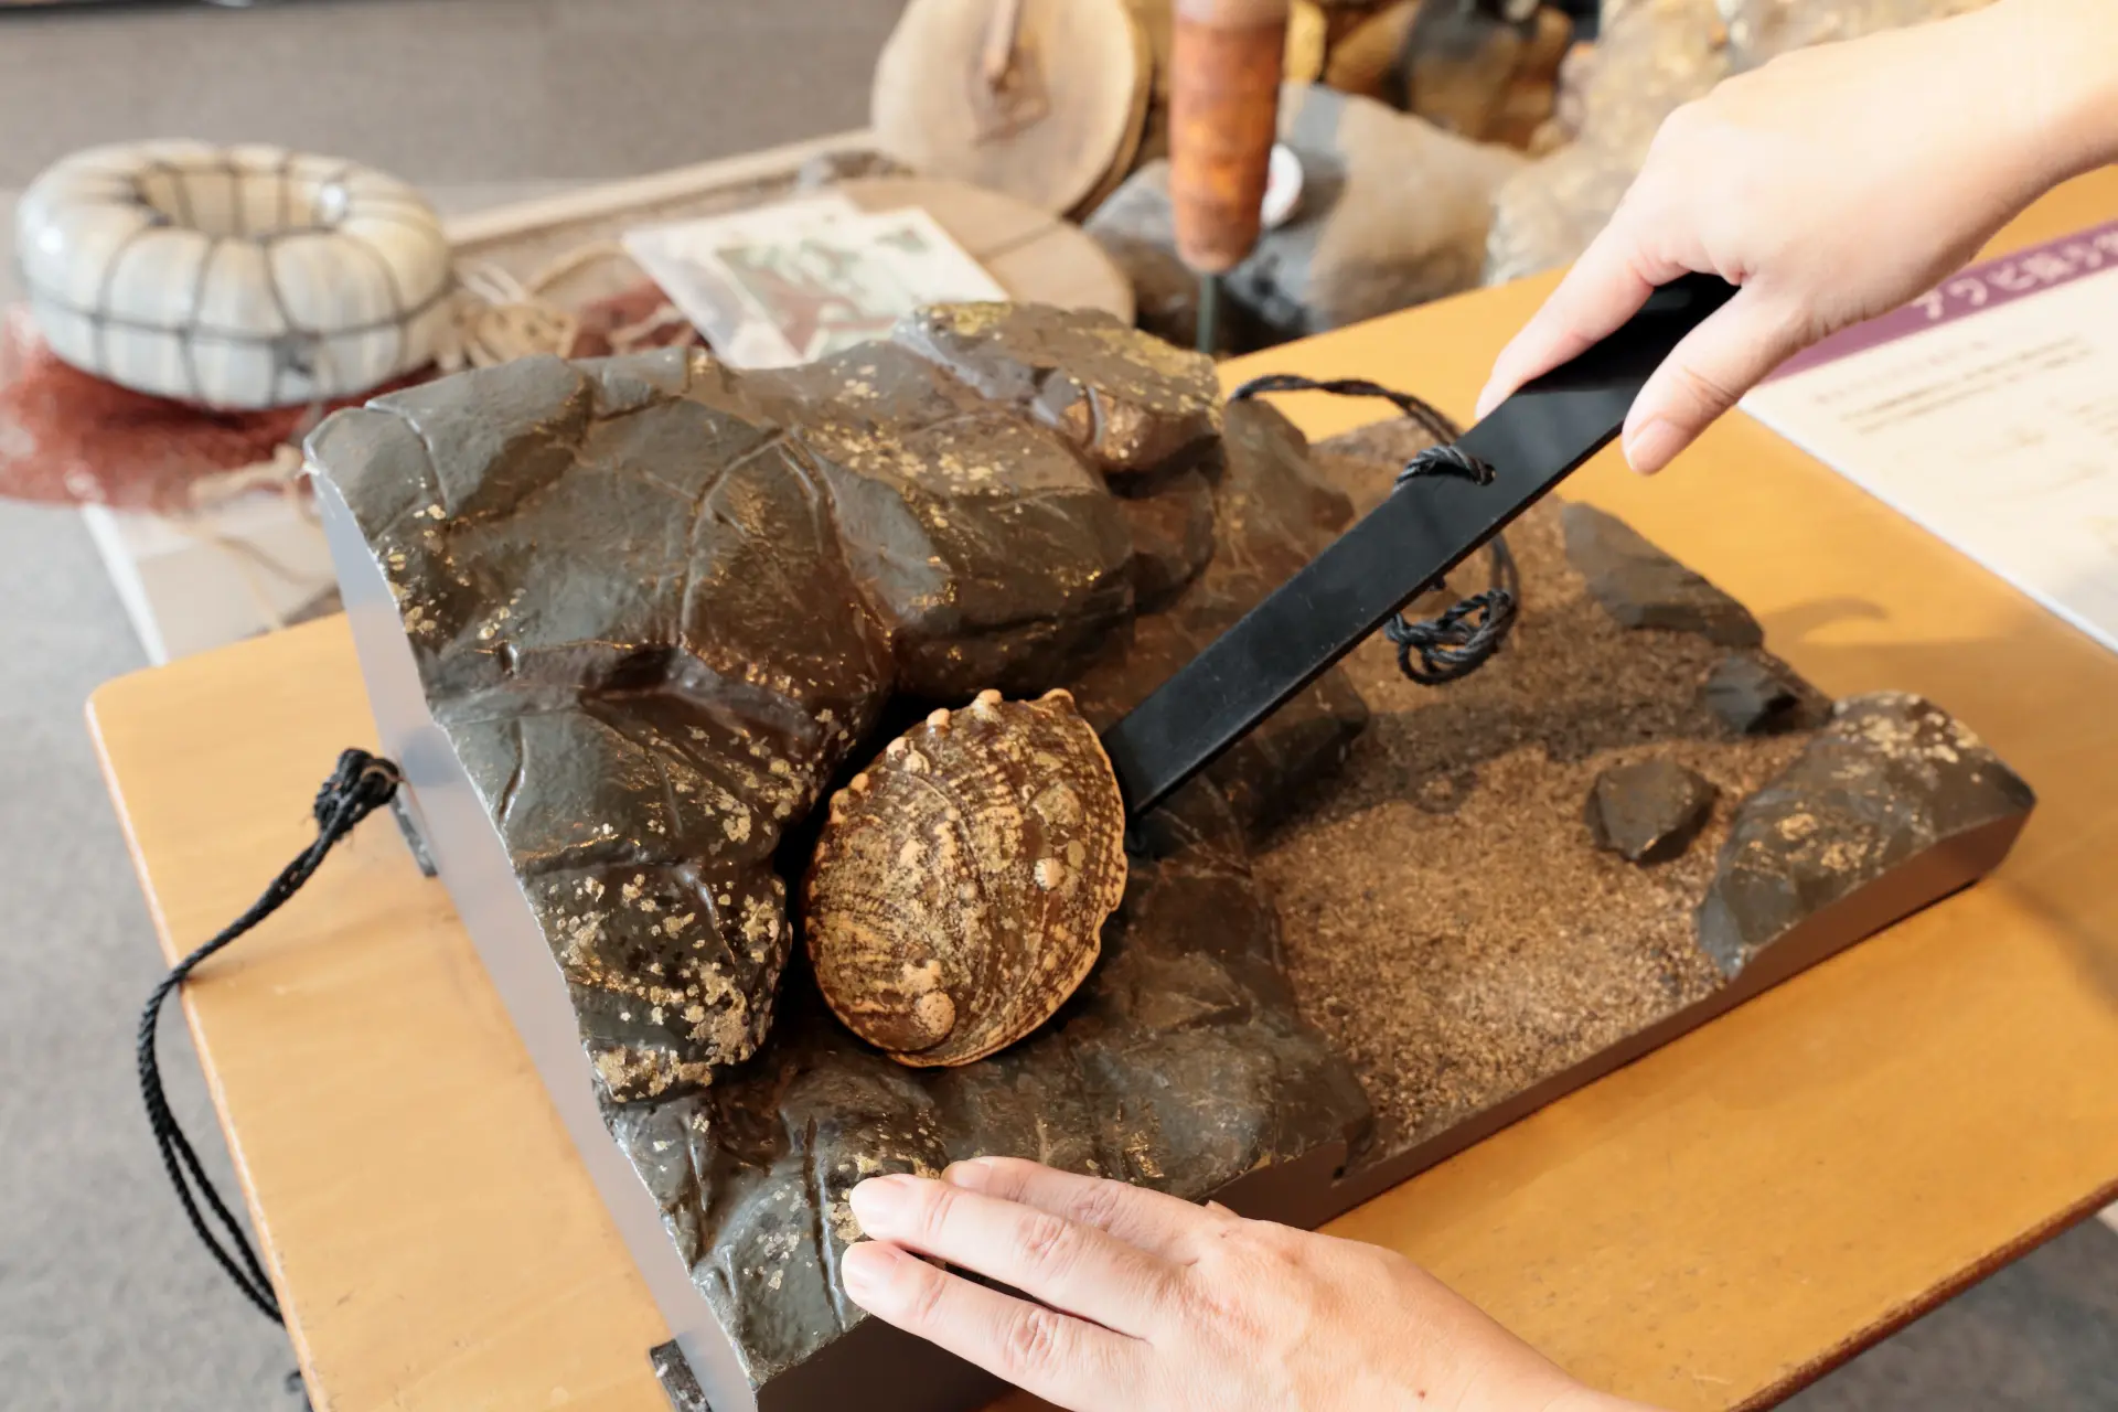
[[[1345,398],[1392,402],[1436,442],[1404,464],[1404,470],[1398,472],[1398,485],[1413,476],[1461,476],[1474,485],[1493,481],[1491,466],[1455,445],[1464,438],[1464,428],[1432,402],[1408,392],[1396,392],[1362,377],[1311,379],[1294,373],[1267,373],[1231,392],[1228,400],[1241,402],[1260,392],[1330,392]],[[1487,550],[1493,559],[1493,578],[1483,593],[1461,599],[1438,618],[1413,622],[1398,612],[1383,624],[1383,635],[1398,646],[1398,671],[1413,682],[1421,686],[1461,682],[1491,660],[1500,652],[1500,644],[1514,631],[1523,599],[1514,553],[1502,536],[1493,536]],[[1442,586],[1442,582],[1432,582],[1421,593]]]

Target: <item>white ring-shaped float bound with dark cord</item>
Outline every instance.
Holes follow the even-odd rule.
[[[51,351],[136,392],[222,409],[343,398],[434,358],[453,273],[405,182],[273,146],[76,152],[15,207]]]

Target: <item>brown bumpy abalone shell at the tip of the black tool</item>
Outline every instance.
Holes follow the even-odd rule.
[[[907,1065],[964,1065],[1065,1003],[1125,898],[1125,804],[1065,692],[983,692],[830,802],[807,887],[832,1012]]]

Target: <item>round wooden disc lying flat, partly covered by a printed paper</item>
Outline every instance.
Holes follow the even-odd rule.
[[[1133,284],[1095,237],[1025,201],[964,182],[866,176],[834,188],[864,212],[917,205],[1025,305],[1103,309],[1133,322]]]

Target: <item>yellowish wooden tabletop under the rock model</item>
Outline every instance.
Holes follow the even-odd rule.
[[[2105,171],[1999,246],[2114,214]],[[1538,294],[1228,375],[1362,375],[1468,413]],[[1377,411],[1286,406],[1311,434]],[[1595,1384],[1764,1406],[2118,1194],[2118,656],[1743,417],[1652,483],[1605,459],[1569,493],[1741,597],[1824,690],[1927,692],[2042,796],[1985,885],[1334,1226]],[[309,840],[337,752],[373,745],[337,618],[112,682],[89,716],[169,955]],[[661,1317],[385,819],[184,1008],[322,1410],[663,1410]]]

